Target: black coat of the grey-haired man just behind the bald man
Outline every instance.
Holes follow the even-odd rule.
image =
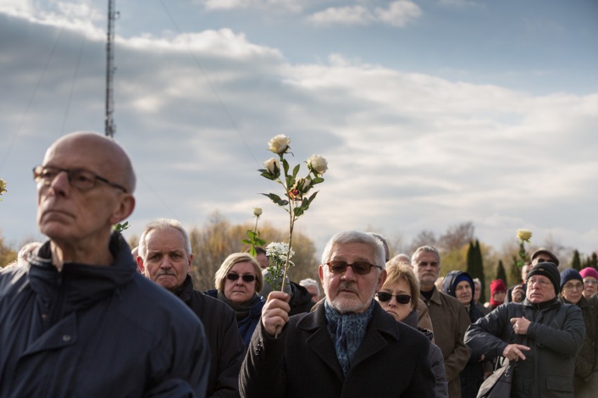
[[[234,311],[226,303],[194,290],[191,275],[176,293],[204,324],[212,352],[206,397],[238,397],[245,345]]]

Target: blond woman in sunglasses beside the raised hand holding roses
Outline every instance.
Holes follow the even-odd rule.
[[[258,261],[247,253],[233,253],[216,271],[215,289],[206,291],[208,296],[224,301],[234,310],[245,347],[248,347],[251,335],[260,322],[265,300],[257,292],[263,284]]]

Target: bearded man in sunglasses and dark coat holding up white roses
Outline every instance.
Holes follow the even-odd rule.
[[[434,397],[430,341],[373,300],[384,250],[366,233],[338,233],[318,268],[326,300],[288,317],[272,291],[241,368],[242,397]]]

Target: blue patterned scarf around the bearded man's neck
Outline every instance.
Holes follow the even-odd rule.
[[[326,321],[328,321],[328,334],[334,343],[336,357],[343,369],[343,374],[347,376],[347,372],[351,369],[355,352],[364,341],[366,336],[366,329],[373,315],[374,303],[361,314],[339,314],[334,308],[328,304],[328,300],[324,303],[326,310]]]

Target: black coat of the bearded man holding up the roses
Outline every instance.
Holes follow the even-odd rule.
[[[434,397],[430,341],[375,303],[366,335],[343,376],[324,305],[291,317],[279,338],[260,322],[239,376],[241,397]]]

